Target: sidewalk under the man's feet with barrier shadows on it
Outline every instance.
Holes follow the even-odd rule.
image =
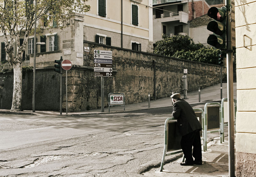
[[[202,152],[203,165],[181,166],[182,158],[164,164],[163,172],[160,167],[152,168],[143,173],[145,177],[226,177],[228,176],[228,137],[220,144],[220,138],[213,138],[206,152]],[[172,155],[171,155],[172,156]],[[170,157],[170,156],[167,156]],[[166,160],[165,160],[166,161]]]

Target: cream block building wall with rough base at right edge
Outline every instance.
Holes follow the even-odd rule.
[[[236,13],[236,177],[256,169],[256,1],[235,1]]]

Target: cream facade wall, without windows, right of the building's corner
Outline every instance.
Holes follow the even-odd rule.
[[[106,0],[106,17],[99,16],[98,0],[87,2],[91,11],[84,13],[84,40],[95,42],[98,33],[111,37],[111,46],[121,47],[123,42],[123,48],[132,49],[132,42],[136,42],[141,44],[141,51],[153,52],[152,0],[122,1]],[[138,6],[138,25],[132,25],[132,4]],[[103,44],[106,44],[105,40]]]

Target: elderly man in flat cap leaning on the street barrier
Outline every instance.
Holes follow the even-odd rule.
[[[172,117],[177,119],[177,127],[182,136],[180,145],[185,162],[180,163],[182,166],[202,165],[202,147],[200,131],[202,126],[199,123],[193,108],[183,99],[180,99],[180,94],[175,93],[171,96],[173,102]],[[193,157],[192,157],[193,146]]]

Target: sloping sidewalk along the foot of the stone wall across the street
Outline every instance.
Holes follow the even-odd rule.
[[[172,93],[170,93],[171,96]],[[220,84],[201,89],[201,102],[199,102],[198,91],[188,92],[186,101],[189,104],[205,104],[207,102],[220,102]],[[145,96],[146,97],[146,96]],[[181,96],[183,98],[183,95]],[[227,83],[222,84],[222,98],[227,98]],[[234,83],[234,98],[236,99],[236,83]],[[148,108],[148,102],[127,104],[125,105],[125,111],[134,110],[144,110],[144,109],[154,109],[172,106],[172,100],[170,97],[152,100],[150,101],[150,108]],[[124,106],[110,107],[110,113],[123,112]],[[27,114],[27,115],[42,115],[42,116],[57,116],[60,115],[59,111],[37,111],[32,112],[32,110],[24,110],[21,112],[10,112],[10,110],[0,110],[0,114]],[[107,114],[108,107],[104,108],[104,112],[101,109],[94,109],[81,112],[68,112],[68,115],[75,114]],[[66,111],[62,112],[62,115],[66,115]]]

